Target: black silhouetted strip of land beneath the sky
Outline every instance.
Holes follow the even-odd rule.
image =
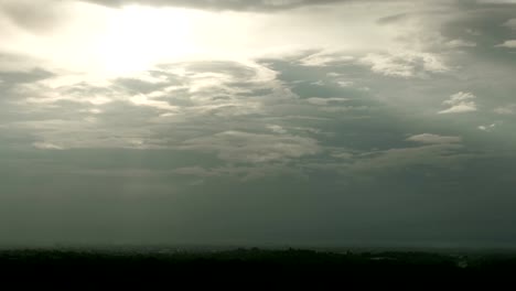
[[[197,281],[247,279],[264,281],[321,279],[323,282],[366,277],[418,279],[510,279],[516,254],[431,254],[420,251],[265,250],[0,250],[0,277],[47,274],[47,278],[88,280],[98,276],[123,281],[153,277],[166,280],[194,276]]]

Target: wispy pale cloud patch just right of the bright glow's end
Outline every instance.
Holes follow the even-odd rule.
[[[443,73],[450,69],[439,55],[416,51],[370,53],[362,57],[361,62],[370,65],[375,73],[405,78],[421,76],[427,72]]]

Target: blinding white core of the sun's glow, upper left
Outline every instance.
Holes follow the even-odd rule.
[[[98,55],[108,73],[126,74],[162,60],[195,54],[192,42],[194,12],[140,6],[116,11],[98,43]]]

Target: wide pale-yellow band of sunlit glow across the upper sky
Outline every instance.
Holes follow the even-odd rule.
[[[66,25],[41,32],[7,21],[0,32],[6,52],[41,60],[41,66],[80,78],[86,74],[106,79],[163,63],[246,62],[321,47],[336,53],[390,47],[394,33],[375,24],[378,13],[387,13],[385,9],[367,14],[366,20],[361,17],[359,28],[350,29],[357,17],[347,6],[268,14],[62,1],[52,10],[66,12]]]

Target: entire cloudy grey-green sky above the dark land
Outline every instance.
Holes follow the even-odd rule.
[[[0,244],[512,246],[516,1],[0,0]]]

